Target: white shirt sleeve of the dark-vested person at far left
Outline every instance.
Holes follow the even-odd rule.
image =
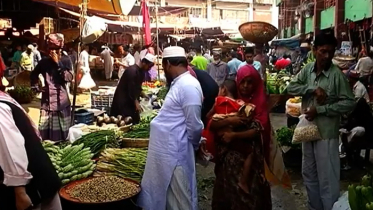
[[[3,100],[2,97],[0,100]],[[0,118],[0,167],[4,171],[3,183],[6,186],[26,185],[32,175],[27,171],[25,139],[14,122],[11,108],[1,102]]]

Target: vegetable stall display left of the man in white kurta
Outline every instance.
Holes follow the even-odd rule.
[[[78,134],[69,134],[68,141],[43,141],[63,184],[60,197],[64,208],[131,209],[136,203],[145,169],[150,122],[167,93],[161,82],[144,83],[143,90],[151,100],[142,100],[144,112],[139,124],[132,125],[131,117],[81,109],[76,111],[75,119],[85,123],[70,128],[80,130]],[[113,91],[106,87],[97,94],[106,96]],[[110,103],[107,106],[103,108],[110,109]]]

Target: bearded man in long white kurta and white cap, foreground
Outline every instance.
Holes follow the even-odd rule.
[[[185,59],[185,66],[167,61],[173,57]],[[183,48],[166,48],[163,59],[168,62],[168,78],[174,77],[162,109],[150,123],[148,157],[138,203],[144,210],[196,210],[194,157],[203,129],[202,89],[187,71]],[[172,71],[180,74],[170,75]]]

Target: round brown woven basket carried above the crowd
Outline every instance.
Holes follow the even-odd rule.
[[[242,38],[252,43],[267,43],[278,34],[276,27],[260,21],[243,23],[238,30]]]

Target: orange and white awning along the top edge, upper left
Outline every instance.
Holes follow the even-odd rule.
[[[34,0],[36,2],[48,4],[67,9],[79,8],[82,0]],[[89,0],[88,11],[109,14],[128,15],[136,0]]]

